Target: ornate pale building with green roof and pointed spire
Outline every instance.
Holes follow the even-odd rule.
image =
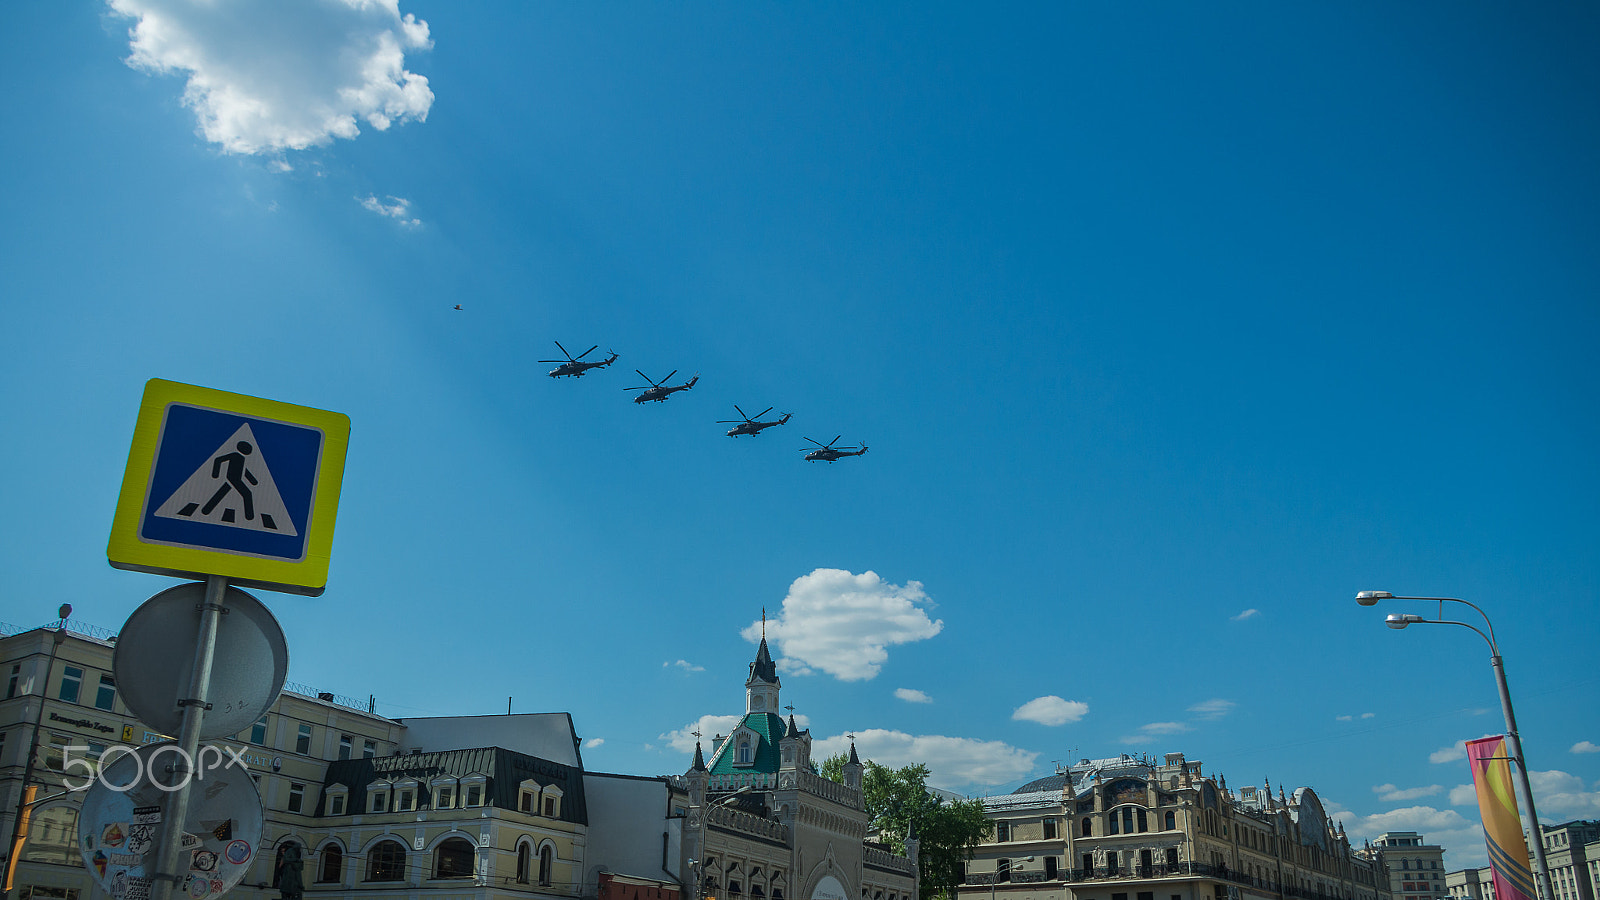
[[[744,716],[717,735],[710,762],[694,745],[683,775],[683,858],[702,897],[725,900],[915,900],[912,858],[872,844],[861,761],[850,748],[845,783],[816,773],[811,732],[779,714],[778,668],[766,637],[744,682]]]

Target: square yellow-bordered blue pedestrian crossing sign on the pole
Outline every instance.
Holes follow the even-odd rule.
[[[342,413],[152,378],[106,557],[315,597],[349,440]]]

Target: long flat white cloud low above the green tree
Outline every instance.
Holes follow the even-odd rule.
[[[837,753],[850,753],[848,737],[835,735],[811,745],[811,759],[827,759]],[[1037,753],[997,740],[909,735],[883,729],[856,732],[856,754],[891,769],[922,762],[928,765],[928,785],[947,791],[1016,781],[1034,770],[1034,759],[1038,757]]]

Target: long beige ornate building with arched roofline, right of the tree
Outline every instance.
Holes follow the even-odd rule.
[[[963,900],[1390,900],[1315,791],[1229,791],[1181,753],[1085,759],[984,799]]]

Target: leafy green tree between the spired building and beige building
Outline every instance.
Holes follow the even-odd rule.
[[[822,761],[822,777],[845,780],[843,754]],[[928,767],[923,764],[890,769],[870,759],[861,777],[861,801],[878,841],[896,854],[906,852],[906,831],[915,826],[922,841],[918,868],[922,897],[954,897],[955,886],[966,879],[966,860],[989,833],[989,818],[979,801],[944,801],[928,791]]]

